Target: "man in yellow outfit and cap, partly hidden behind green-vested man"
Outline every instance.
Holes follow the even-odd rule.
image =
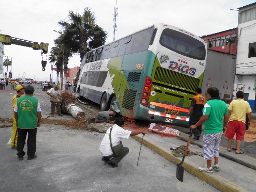
[[[18,98],[21,97],[25,93],[25,86],[24,85],[18,85],[16,87],[17,94],[15,94],[12,98],[12,133],[11,133],[11,148],[17,149],[17,140],[18,140],[18,132],[17,132],[17,126],[16,126],[16,120],[14,116],[14,107],[17,103]]]

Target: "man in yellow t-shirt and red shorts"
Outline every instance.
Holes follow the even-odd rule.
[[[243,151],[240,151],[241,142],[245,135],[245,121],[246,114],[248,116],[248,126],[251,125],[251,107],[247,101],[244,100],[243,91],[237,91],[236,100],[232,101],[229,106],[229,124],[227,125],[227,130],[225,137],[228,139],[229,147],[227,151],[231,151],[231,145],[233,137],[236,134],[236,154],[242,154]]]

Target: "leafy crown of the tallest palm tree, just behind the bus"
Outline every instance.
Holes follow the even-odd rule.
[[[80,60],[90,50],[106,42],[107,33],[96,24],[96,17],[90,8],[82,14],[68,12],[68,22],[58,22],[64,29],[62,42],[72,53],[79,53]]]

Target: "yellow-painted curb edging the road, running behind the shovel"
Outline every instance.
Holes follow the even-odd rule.
[[[141,143],[142,137],[131,137]],[[163,156],[165,159],[167,159],[168,161],[172,162],[175,165],[181,162],[180,157],[174,156],[169,149],[159,145],[157,142],[144,138],[143,145],[158,153],[159,155]],[[229,181],[216,173],[204,173],[198,171],[198,169],[195,167],[199,167],[199,165],[191,162],[189,159],[186,159],[186,161],[183,162],[182,167],[184,167],[184,169],[187,172],[191,173],[195,177],[201,179],[202,181],[206,182],[207,184],[215,187],[220,191],[247,191],[240,185],[237,185],[236,183]]]

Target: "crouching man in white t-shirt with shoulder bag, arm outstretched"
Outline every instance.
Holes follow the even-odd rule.
[[[143,135],[146,134],[145,131],[128,131],[124,130],[122,127],[124,125],[124,120],[122,118],[116,118],[115,125],[110,127],[102,142],[101,145],[99,146],[99,151],[102,153],[102,161],[105,163],[108,163],[111,167],[118,167],[118,163],[121,161],[121,159],[129,153],[129,148],[124,147],[123,148],[123,153],[120,156],[116,156],[115,153],[111,150],[110,147],[110,139],[109,139],[109,134],[110,134],[110,129],[111,130],[111,143],[112,146],[117,146],[122,138],[128,139],[130,136],[138,135],[142,133]]]

